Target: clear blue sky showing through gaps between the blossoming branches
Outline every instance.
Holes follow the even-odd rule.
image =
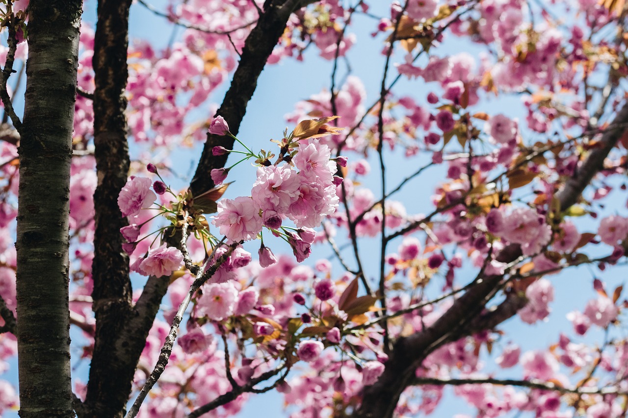
[[[166,1],[153,0],[150,2],[157,8],[165,10]],[[371,2],[374,4],[372,12],[381,16],[387,15],[387,3],[388,2]],[[84,20],[93,22],[95,20],[95,1],[86,1],[84,6]],[[371,18],[367,18],[362,15],[356,15],[354,18],[355,32],[359,34],[356,45],[349,51],[349,60],[352,65],[352,73],[357,75],[362,82],[364,82],[367,89],[367,104],[371,104],[373,100],[377,99],[379,94],[379,85],[381,83],[382,68],[384,67],[384,57],[377,53],[382,48],[382,36],[372,38],[368,34],[374,30],[376,21]],[[155,45],[165,45],[170,39],[171,25],[166,22],[165,19],[154,16],[153,13],[146,10],[143,6],[135,3],[131,9],[131,40],[133,38],[148,39]],[[181,33],[181,30],[178,30]],[[465,40],[456,38],[454,41],[445,42],[442,48],[435,50],[436,55],[444,56],[452,53],[459,53],[461,51],[468,51],[474,54],[474,51],[478,51],[477,46],[468,43]],[[402,62],[403,56],[398,56],[398,62]],[[341,66],[342,68],[342,66]],[[278,65],[269,65],[262,73],[256,93],[249,102],[247,108],[247,114],[242,122],[239,138],[242,141],[251,144],[253,147],[264,147],[268,149],[268,139],[271,137],[279,137],[286,122],[284,115],[293,111],[294,105],[298,100],[308,99],[311,94],[320,92],[322,88],[329,88],[329,80],[332,72],[332,62],[322,60],[318,57],[317,50],[311,47],[306,51],[305,60],[303,62],[296,62],[296,60],[283,60]],[[341,72],[342,78],[342,72]],[[393,71],[393,77],[395,72]],[[389,77],[391,79],[392,77]],[[219,103],[222,100],[222,95],[226,90],[227,85],[224,88],[217,91],[210,100]],[[409,82],[408,80],[402,80],[396,87],[397,92],[408,92],[408,95],[416,95],[425,100],[426,92],[421,92],[422,85],[416,82]],[[504,109],[508,109],[506,112]],[[482,101],[482,107],[479,110],[487,112],[489,114],[496,114],[500,112],[507,113],[511,117],[522,118],[522,105],[519,97],[516,96],[502,96],[499,99],[492,99]],[[19,112],[19,110],[18,110]],[[205,115],[209,117],[210,115]],[[199,112],[199,118],[203,117]],[[188,167],[191,167],[198,160],[199,150],[183,151],[173,154],[171,157],[173,165],[180,167],[181,173],[187,173]],[[349,155],[350,158],[355,156]],[[395,185],[396,180],[399,180],[410,173],[416,166],[408,164],[404,159],[393,153],[386,153],[386,160],[389,164],[389,185]],[[243,165],[246,165],[243,164]],[[379,185],[377,164],[375,161],[371,161],[372,175],[367,178],[370,184]],[[237,195],[238,193],[248,193],[242,190],[247,187],[250,188],[252,182],[253,168],[242,170],[237,176],[236,185],[230,188],[229,193]],[[430,180],[426,181],[425,178],[414,181],[408,185],[408,192],[403,191],[399,193],[395,198],[401,200],[408,207],[409,212],[416,213],[427,211],[431,207],[430,195],[433,193],[434,186],[438,181],[443,178],[443,169],[436,168],[430,172]],[[240,187],[241,186],[241,187]],[[375,186],[374,191],[377,190]],[[376,191],[377,193],[377,191]],[[229,195],[228,195],[229,196]],[[609,212],[616,212],[620,215],[626,215],[625,210],[625,196],[620,196],[615,192],[609,200],[607,200],[607,210]],[[594,232],[593,223],[592,232]],[[362,244],[363,243],[363,244]],[[391,244],[390,249],[394,250],[398,243]],[[361,242],[364,254],[373,252],[379,254],[379,248],[374,242],[363,240]],[[251,250],[251,249],[249,249]],[[331,251],[327,248],[318,248],[319,257],[327,257],[331,254]],[[316,254],[315,254],[316,255]],[[376,257],[364,257],[365,259]],[[313,256],[313,259],[316,259]],[[376,261],[376,260],[374,260]],[[339,271],[335,265],[335,271]],[[376,269],[376,262],[368,263],[365,266],[366,270]],[[468,272],[468,276],[465,275]],[[578,267],[577,269],[569,269],[566,272],[558,274],[556,276],[549,276],[548,279],[555,286],[556,299],[551,307],[555,314],[551,316],[551,321],[546,323],[538,323],[533,326],[522,324],[519,319],[514,318],[509,323],[501,327],[512,335],[516,335],[514,339],[517,343],[522,345],[523,350],[529,350],[533,348],[545,348],[550,343],[556,342],[558,333],[561,330],[571,330],[571,324],[566,320],[565,314],[573,309],[582,310],[585,306],[588,298],[592,297],[591,292],[592,279],[594,276],[603,277],[609,284],[611,290],[617,284],[621,284],[624,280],[626,273],[625,267],[618,267],[607,269],[604,274],[600,274],[597,269],[591,267]],[[458,284],[463,281],[467,281],[467,278],[472,277],[474,271],[467,269],[462,271],[461,278],[458,278]],[[571,334],[571,332],[569,332]],[[601,337],[601,333],[595,331],[587,334],[587,340],[590,340],[593,336]],[[507,340],[506,340],[507,341]],[[504,341],[504,343],[506,343]],[[499,349],[496,349],[495,354],[499,354]],[[490,360],[489,360],[490,361]],[[84,362],[77,368],[77,375],[87,379],[87,362]],[[11,364],[12,372],[16,370],[14,362]],[[518,376],[518,370],[515,369],[509,373],[503,373],[504,377]],[[6,378],[6,377],[5,377]],[[11,373],[8,376],[9,380],[15,382],[15,375]],[[263,411],[263,416],[267,417],[281,417],[285,415],[283,412],[283,397],[276,392],[271,392],[264,395],[251,396],[249,402],[242,410],[241,414],[237,415],[239,418],[252,418],[259,417],[260,411]],[[452,395],[448,396],[446,402],[442,402],[439,409],[435,412],[434,416],[452,416],[456,413],[472,412],[465,402],[459,399],[455,399]],[[16,416],[16,415],[6,415]]]

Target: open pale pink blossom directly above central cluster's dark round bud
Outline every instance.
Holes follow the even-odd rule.
[[[269,166],[257,169],[257,180],[251,190],[255,204],[262,210],[285,213],[298,198],[300,180],[290,166]]]

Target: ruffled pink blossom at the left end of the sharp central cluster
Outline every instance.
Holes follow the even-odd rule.
[[[262,230],[259,208],[249,197],[235,200],[222,199],[218,202],[218,214],[212,223],[220,228],[220,233],[232,241],[254,239]]]

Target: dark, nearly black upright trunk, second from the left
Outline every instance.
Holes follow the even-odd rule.
[[[127,338],[123,327],[133,308],[129,257],[122,250],[120,228],[127,225],[117,196],[129,171],[126,110],[127,47],[131,0],[100,0],[94,40],[94,146],[98,186],[94,193],[94,314],[96,333],[85,414],[121,417],[143,345],[116,342]],[[148,330],[146,330],[148,333]],[[143,335],[143,340],[146,338]]]

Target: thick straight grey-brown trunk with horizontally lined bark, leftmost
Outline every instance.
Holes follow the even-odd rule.
[[[22,418],[74,416],[68,213],[81,8],[80,0],[30,2],[16,242]]]

